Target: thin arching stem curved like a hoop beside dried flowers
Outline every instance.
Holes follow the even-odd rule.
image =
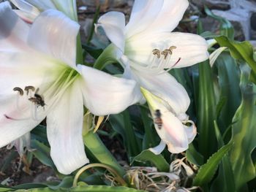
[[[115,176],[115,179],[116,179],[116,181],[118,181],[118,183],[120,183],[123,186],[127,186],[127,183],[124,181],[124,179],[111,166],[108,166],[108,165],[105,165],[105,164],[89,164],[89,165],[83,166],[77,172],[77,174],[75,174],[75,178],[73,180],[73,187],[76,187],[78,185],[78,178],[80,177],[80,174],[82,174],[87,169],[90,169],[92,167],[103,167],[105,169],[108,169],[108,171]]]

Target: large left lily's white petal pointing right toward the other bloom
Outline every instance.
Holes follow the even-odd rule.
[[[78,65],[83,102],[94,115],[116,114],[140,100],[136,82],[113,77],[88,66]]]

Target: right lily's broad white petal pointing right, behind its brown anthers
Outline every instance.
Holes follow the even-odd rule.
[[[176,46],[176,49],[170,60],[164,61],[168,67],[181,68],[208,59],[208,45],[203,37],[179,32],[136,35],[127,42],[126,54],[135,64],[151,64],[152,50],[162,51],[170,46]],[[162,56],[159,59],[164,60]]]

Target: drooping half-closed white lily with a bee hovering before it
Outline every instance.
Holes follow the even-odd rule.
[[[181,153],[187,150],[189,143],[195,138],[197,128],[188,115],[171,107],[167,101],[141,88],[143,96],[148,101],[151,115],[154,119],[154,127],[162,139],[157,147],[150,148],[155,154],[162,153],[167,145],[170,153]]]

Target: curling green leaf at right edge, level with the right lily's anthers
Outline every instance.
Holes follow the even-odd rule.
[[[253,59],[253,47],[249,42],[234,42],[227,37],[215,38],[220,46],[228,47],[233,58],[245,61],[252,68],[250,80],[256,84],[256,61]]]

